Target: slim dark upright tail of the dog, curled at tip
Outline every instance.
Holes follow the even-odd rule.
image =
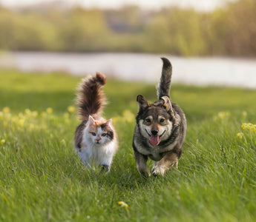
[[[161,58],[163,60],[163,70],[160,78],[160,83],[157,86],[157,97],[160,99],[162,96],[168,96],[170,98],[171,89],[171,62],[167,58]]]

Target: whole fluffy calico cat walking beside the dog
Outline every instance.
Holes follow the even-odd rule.
[[[96,73],[95,76],[82,79],[79,85],[76,106],[82,122],[76,127],[74,147],[85,166],[99,166],[109,172],[118,141],[112,119],[102,117],[106,104],[102,91],[105,83],[105,75]]]

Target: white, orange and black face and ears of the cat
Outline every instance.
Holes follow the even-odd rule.
[[[93,144],[107,144],[114,139],[112,119],[96,121],[91,115],[88,120],[88,135]]]

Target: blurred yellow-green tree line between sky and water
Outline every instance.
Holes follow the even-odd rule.
[[[256,1],[235,1],[211,13],[0,7],[0,50],[255,56]]]

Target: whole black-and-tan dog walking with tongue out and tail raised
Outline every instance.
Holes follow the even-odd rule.
[[[181,108],[171,102],[172,67],[167,58],[163,60],[163,71],[157,87],[158,101],[149,104],[137,96],[139,111],[134,130],[134,155],[137,169],[142,175],[150,175],[148,158],[154,161],[152,174],[164,175],[171,166],[176,166],[183,151],[186,138],[186,116]]]

